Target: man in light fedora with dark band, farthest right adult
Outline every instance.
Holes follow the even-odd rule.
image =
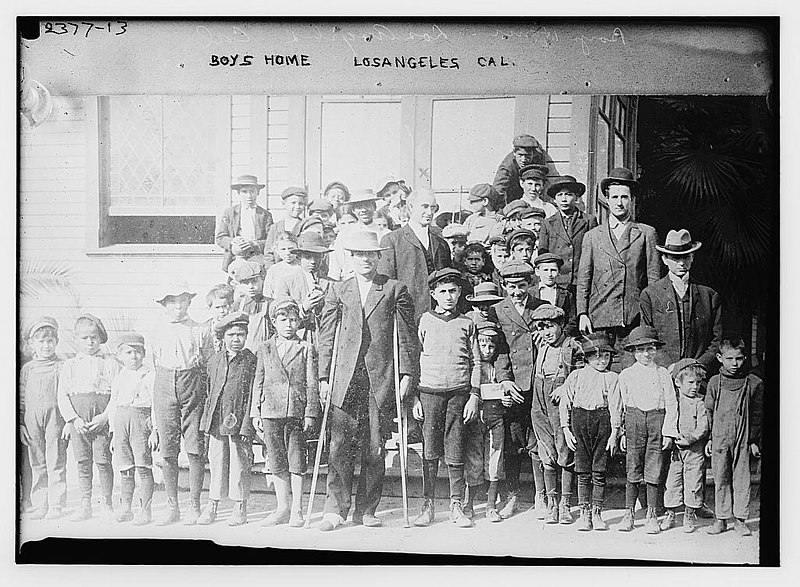
[[[689,277],[701,246],[685,228],[670,230],[664,246],[656,245],[669,273],[642,291],[639,307],[642,322],[653,326],[664,342],[661,364],[697,359],[713,373],[722,339],[722,305],[717,292]]]

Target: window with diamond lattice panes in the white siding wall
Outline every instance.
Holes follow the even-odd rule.
[[[229,201],[230,96],[98,99],[100,247],[207,244]]]

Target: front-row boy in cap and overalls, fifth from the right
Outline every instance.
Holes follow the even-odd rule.
[[[546,524],[571,524],[570,497],[574,477],[574,455],[564,441],[558,402],[554,390],[564,383],[575,366],[579,348],[575,340],[564,335],[564,311],[551,304],[536,308],[531,319],[541,334],[536,349],[533,376],[531,423],[539,459],[544,467],[547,492]],[[557,499],[561,473],[561,500]]]

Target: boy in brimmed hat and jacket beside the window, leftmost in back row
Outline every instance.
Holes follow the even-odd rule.
[[[222,270],[236,256],[248,258],[264,253],[264,244],[272,225],[272,214],[256,204],[258,193],[264,188],[255,175],[240,175],[231,184],[239,196],[239,203],[226,208],[217,218],[215,242],[225,251]]]

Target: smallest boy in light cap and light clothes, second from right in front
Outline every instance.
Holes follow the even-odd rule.
[[[680,392],[678,398],[678,438],[670,455],[664,506],[667,515],[662,530],[675,523],[676,511],[685,506],[683,531],[694,532],[697,510],[703,507],[708,437],[708,416],[700,387],[706,377],[705,366],[697,359],[681,359],[672,367],[672,379]]]

